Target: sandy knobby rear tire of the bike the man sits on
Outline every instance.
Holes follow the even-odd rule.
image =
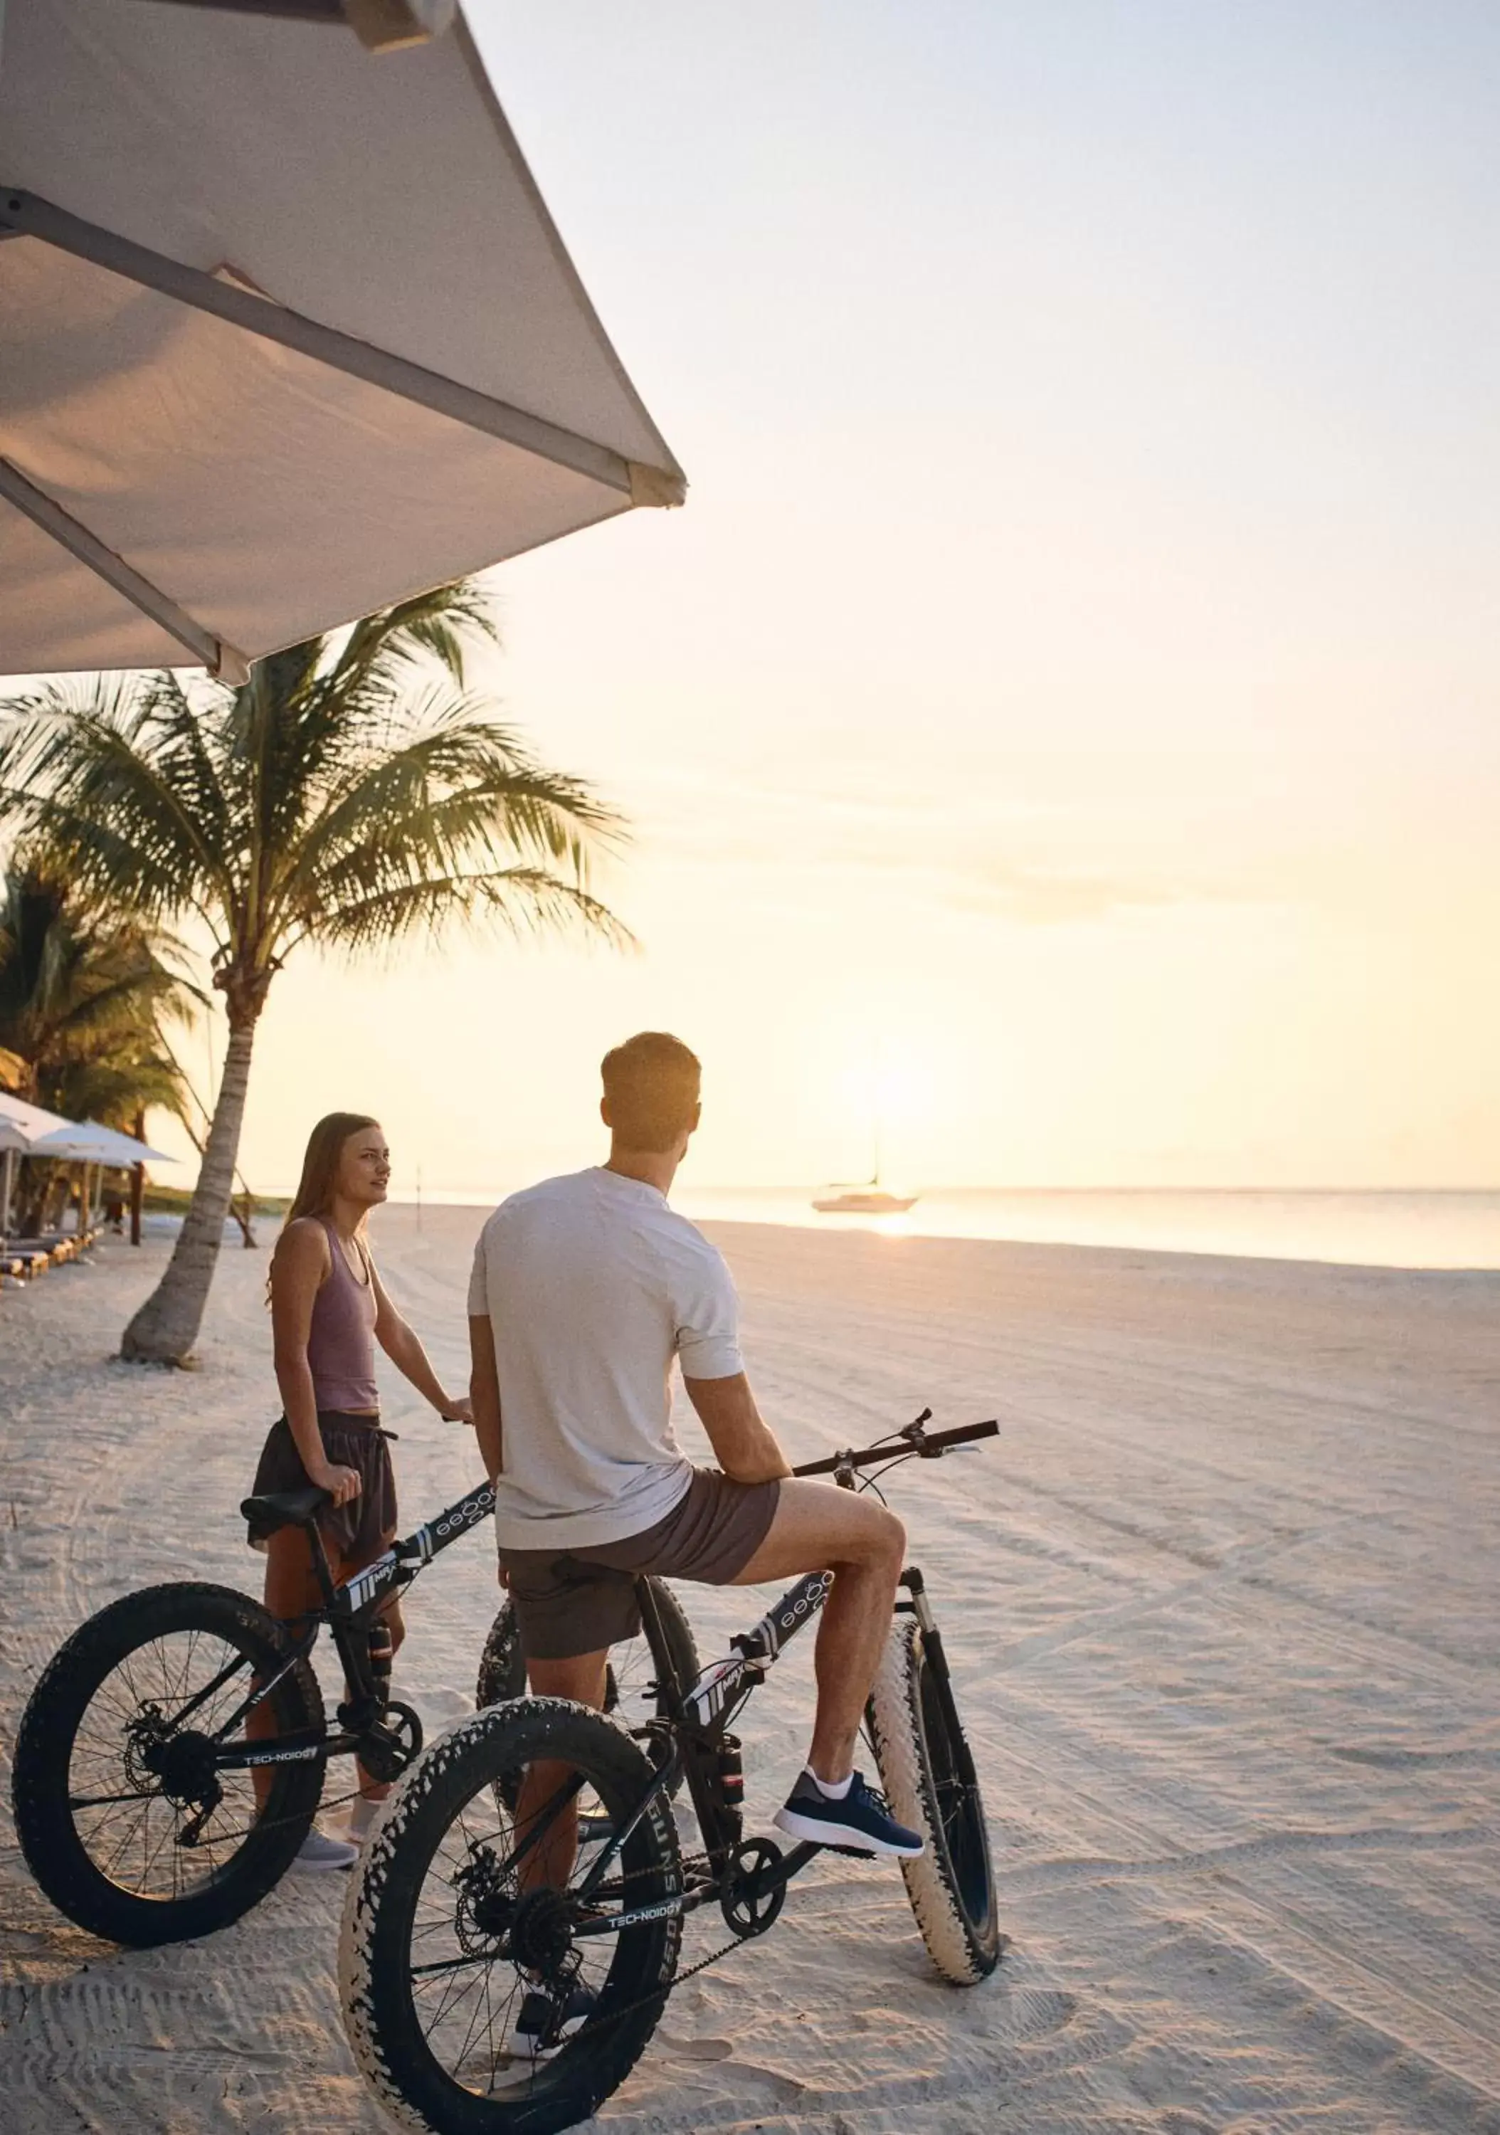
[[[657,2028],[676,1973],[681,1915],[627,1928],[600,2005],[578,2039],[538,2062],[525,2094],[480,2097],[440,2065],[412,1998],[412,1926],[422,1881],[457,1817],[497,1774],[533,1759],[583,1772],[623,1821],[647,1791],[651,1766],[623,1727],[563,1697],[491,1706],[440,1736],[380,1810],[350,1875],[339,1932],[339,2003],[361,2075],[393,2120],[437,2135],[559,2135],[625,2082]],[[683,1887],[676,1825],[661,1793],[623,1849],[632,1907]],[[617,2015],[612,2011],[619,2011]]]

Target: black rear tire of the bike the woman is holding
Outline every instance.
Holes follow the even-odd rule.
[[[68,1806],[73,1746],[96,1693],[134,1652],[158,1638],[198,1631],[250,1659],[252,1672],[273,1674],[286,1663],[286,1631],[248,1595],[230,1586],[177,1582],[126,1595],[81,1625],[43,1670],[15,1740],[15,1830],[26,1864],[51,1902],[79,1928],[111,1943],[151,1949],[226,1928],[258,1904],[286,1875],[312,1830],[322,1796],[322,1761],[275,1766],[265,1813],[245,1828],[233,1853],[203,1883],[179,1898],[149,1898],[115,1883],[90,1855]],[[124,1687],[124,1678],[119,1678]],[[162,1699],[166,1704],[166,1699]],[[277,1734],[322,1731],[322,1693],[305,1661],[271,1695]],[[105,1725],[102,1712],[96,1725]],[[192,1723],[190,1723],[192,1725]],[[119,1721],[122,1781],[126,1725]],[[243,1774],[233,1774],[243,1783]],[[109,1791],[100,1785],[98,1791]],[[162,1798],[162,1815],[171,1804]],[[190,1810],[179,1810],[186,1821]],[[166,1840],[169,1845],[173,1840]],[[179,1849],[192,1866],[190,1849]]]

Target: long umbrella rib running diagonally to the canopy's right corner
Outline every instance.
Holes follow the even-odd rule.
[[[141,288],[154,288],[162,297],[175,297],[177,303],[211,312],[213,318],[224,318],[230,327],[258,333],[282,348],[294,348],[299,354],[312,357],[314,363],[326,363],[350,378],[363,378],[365,384],[446,414],[467,429],[482,429],[538,459],[572,468],[574,474],[619,489],[632,502],[647,502],[640,491],[649,485],[642,485],[638,472],[632,480],[634,463],[610,446],[580,438],[572,429],[561,429],[538,414],[527,414],[525,408],[512,408],[489,393],[478,393],[474,386],[463,386],[440,371],[429,371],[420,363],[408,363],[405,357],[376,348],[373,342],[361,342],[352,333],[324,327],[303,312],[290,312],[237,282],[220,282],[218,275],[205,273],[201,267],[183,267],[181,260],[166,258],[164,252],[151,252],[128,237],[115,237],[113,231],[83,222],[66,209],[53,207],[51,201],[41,201],[34,192],[0,188],[0,228],[9,228],[17,237],[38,237],[43,243],[92,260],[96,267],[107,267],[109,273],[124,275]],[[649,502],[683,502],[681,474],[672,476],[655,468],[649,472],[664,485],[664,493],[649,497]]]

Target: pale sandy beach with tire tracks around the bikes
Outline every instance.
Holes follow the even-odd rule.
[[[376,1221],[388,1285],[465,1373],[480,1211]],[[269,1236],[269,1225],[262,1225]],[[984,1776],[1011,1951],[930,1973],[900,1879],[826,1862],[685,1983],[602,2122],[638,2135],[1500,2131],[1500,1277],[719,1225],[794,1458],[930,1405],[999,1416],[907,1469]],[[226,1247],[198,1373],[109,1360],[164,1243],[0,1298],[0,1753],[38,1670],[134,1586],[258,1588],[235,1516],[275,1413],[265,1251]],[[472,1441],[390,1383],[405,1524]],[[693,1439],[693,1443],[702,1443]],[[410,1603],[397,1693],[467,1710],[486,1535]],[[689,1597],[700,1646],[747,1597]],[[747,1714],[764,1828],[811,1642]],[[337,1768],[335,1768],[337,1772]],[[329,1791],[341,1791],[331,1778]],[[382,2126],[333,1958],[341,1879],[220,1936],[119,1951],[0,1830],[13,2135]],[[713,1947],[689,1928],[685,1962]]]

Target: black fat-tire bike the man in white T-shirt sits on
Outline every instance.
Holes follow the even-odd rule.
[[[928,1420],[796,1473],[868,1488],[875,1473],[860,1484],[862,1471],[935,1460],[999,1428],[928,1433]],[[807,1573],[730,1640],[725,1659],[685,1674],[657,1582],[638,1580],[651,1717],[629,1727],[561,1697],[518,1697],[461,1721],[414,1761],[352,1872],[339,1936],[350,2045],[397,2122],[555,2135],[587,2120],[661,2018],[685,1917],[717,1904],[730,1930],[704,1964],[775,1926],[792,1877],[826,1849],[745,1836],[732,1723],[828,1586],[828,1573]],[[915,1565],[900,1588],[866,1731],[894,1815],[926,1840],[900,1864],[926,1949],[954,1986],[975,1986],[1003,1951],[984,1802]],[[563,1776],[523,1819],[518,1781],[533,1764]],[[702,1836],[693,1855],[672,1810],[679,1783]],[[550,1855],[548,1834],[572,1847],[574,1819],[559,1885],[548,1862],[565,1855]]]

